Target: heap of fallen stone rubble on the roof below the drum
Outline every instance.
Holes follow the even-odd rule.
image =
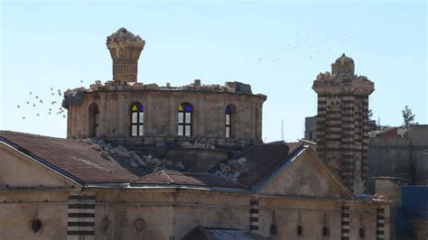
[[[172,148],[159,151],[130,150],[121,144],[107,143],[102,139],[82,139],[81,142],[88,143],[99,155],[107,161],[123,162],[135,169],[135,171],[145,171],[144,173],[157,171],[197,171],[200,173],[214,174],[225,180],[237,182],[240,171],[245,171],[244,163],[247,162],[246,152],[217,150],[214,145],[182,142]],[[284,144],[285,146],[285,144]],[[179,152],[179,160],[172,159],[174,154],[168,154],[169,151],[179,149],[184,152],[202,152],[195,161],[189,161],[188,154]],[[158,149],[159,150],[159,149]],[[209,154],[206,154],[209,152]],[[219,159],[213,159],[213,156],[220,155]],[[198,168],[198,162],[211,162],[208,166]]]

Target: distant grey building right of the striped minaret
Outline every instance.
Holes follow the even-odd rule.
[[[410,185],[428,184],[428,125],[410,130],[387,127],[370,132],[368,190],[374,192],[376,177],[394,177]]]

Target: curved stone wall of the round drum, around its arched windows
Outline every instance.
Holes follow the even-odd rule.
[[[127,86],[129,87],[129,86]],[[144,86],[143,86],[144,87]],[[131,87],[129,87],[131,88]],[[81,105],[68,106],[68,138],[90,137],[89,106],[98,106],[98,136],[130,143],[162,144],[177,139],[198,139],[217,145],[248,145],[262,139],[262,107],[265,97],[229,92],[151,90],[131,88],[94,91],[85,94]],[[131,137],[130,107],[144,106],[144,136]],[[192,136],[180,137],[178,107],[193,106]],[[232,134],[225,137],[225,109],[232,105]]]

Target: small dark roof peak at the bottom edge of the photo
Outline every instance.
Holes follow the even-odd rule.
[[[183,240],[267,240],[270,237],[248,233],[247,231],[234,228],[219,228],[197,226]]]

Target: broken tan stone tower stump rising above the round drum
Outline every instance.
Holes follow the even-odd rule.
[[[107,37],[107,48],[113,59],[113,80],[115,82],[136,82],[138,59],[144,49],[144,40],[125,28]]]

